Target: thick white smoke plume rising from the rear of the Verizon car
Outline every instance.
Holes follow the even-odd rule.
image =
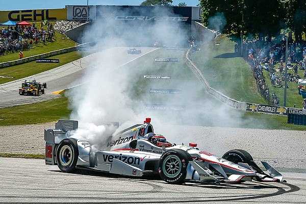
[[[151,15],[169,16],[168,11],[162,11],[157,8],[156,13]],[[123,11],[119,13],[124,15]],[[100,12],[100,16],[107,17],[107,20],[94,21],[84,38],[85,41],[93,41],[94,48],[101,51],[92,55],[91,67],[85,70],[80,79],[83,85],[67,93],[72,109],[70,118],[79,121],[79,129],[73,137],[87,139],[92,144],[105,143],[114,133],[114,126],[104,125],[106,123],[119,122],[122,130],[123,127],[142,123],[145,117],[148,117],[141,111],[135,112],[137,108],[134,101],[138,99],[131,98],[129,93],[133,90],[127,90],[133,87],[133,75],[142,76],[133,69],[120,67],[120,62],[124,62],[127,47],[124,48],[124,53],[120,53],[116,46],[128,45],[131,41],[139,45],[149,45],[160,39],[168,44],[188,40],[185,31],[181,31],[179,24],[173,21],[158,21],[139,27],[137,23],[118,23],[114,16],[110,17],[104,11]],[[142,109],[142,106],[139,109]],[[158,120],[158,117],[155,118],[155,123],[158,123]]]

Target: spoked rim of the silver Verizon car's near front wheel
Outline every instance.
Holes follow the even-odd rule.
[[[163,172],[167,177],[175,177],[180,174],[182,162],[179,157],[169,155],[163,162]]]

